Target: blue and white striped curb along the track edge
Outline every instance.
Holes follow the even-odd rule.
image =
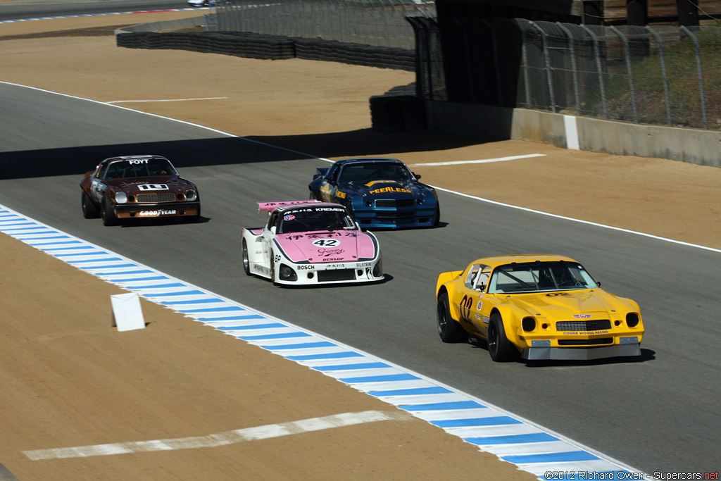
[[[540,479],[650,479],[637,469],[470,394],[180,281],[1,205],[0,232],[226,335],[410,412]],[[573,477],[579,472],[595,477]]]

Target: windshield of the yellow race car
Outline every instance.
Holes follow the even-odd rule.
[[[582,265],[575,262],[523,262],[495,268],[488,285],[490,294],[572,291],[597,288]]]

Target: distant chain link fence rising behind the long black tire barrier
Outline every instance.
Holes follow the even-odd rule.
[[[218,0],[216,28],[221,32],[337,40],[374,47],[415,48],[409,15],[435,16],[429,0],[286,0],[248,4]]]

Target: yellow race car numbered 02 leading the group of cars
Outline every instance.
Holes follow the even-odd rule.
[[[600,286],[570,257],[474,260],[438,276],[438,334],[444,343],[485,339],[493,361],[640,356],[638,304]]]

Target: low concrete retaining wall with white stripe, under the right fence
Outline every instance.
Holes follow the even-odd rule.
[[[721,167],[719,131],[456,102],[426,101],[425,107],[428,128],[438,131]]]

